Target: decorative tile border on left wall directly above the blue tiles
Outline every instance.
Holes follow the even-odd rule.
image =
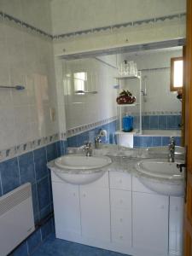
[[[36,140],[33,140],[32,142],[22,143],[11,148],[0,150],[0,162],[4,160],[9,160],[20,154],[25,154],[26,152],[32,151],[34,149],[42,148],[49,145],[50,143],[55,143],[59,140],[59,133],[55,133],[47,137],[38,138]]]

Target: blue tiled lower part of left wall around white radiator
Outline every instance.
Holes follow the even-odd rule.
[[[32,152],[22,154],[17,158],[0,163],[0,196],[20,186],[20,183],[32,183],[32,206],[36,224],[41,218],[44,218],[47,214],[49,214],[50,211],[53,210],[53,205],[51,203],[51,182],[46,164],[47,157],[49,160],[57,157],[59,145],[61,145],[60,142],[53,143],[47,147],[38,148]],[[63,151],[66,152],[67,142],[62,142],[62,145]],[[48,154],[46,154],[46,152]],[[37,179],[35,177],[37,177]],[[1,184],[3,185],[3,188],[1,187]],[[52,221],[50,223],[52,226]],[[45,224],[41,231],[43,238],[48,236],[49,232],[51,231],[50,224]],[[17,247],[15,251],[11,253],[11,255],[28,255],[27,244],[29,253],[31,254],[40,243],[41,233],[40,230],[37,230],[27,239],[26,242],[20,244],[20,246]]]

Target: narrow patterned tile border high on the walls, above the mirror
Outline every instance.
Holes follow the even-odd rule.
[[[133,20],[130,22],[126,23],[120,23],[120,24],[114,24],[112,26],[100,26],[100,27],[95,27],[93,29],[86,29],[82,31],[77,31],[77,32],[69,32],[69,33],[63,33],[63,34],[57,34],[57,35],[52,35],[48,32],[44,32],[43,30],[32,26],[28,23],[26,23],[23,20],[19,20],[12,15],[8,15],[4,13],[3,11],[0,11],[0,18],[1,20],[8,20],[9,22],[15,23],[17,26],[24,27],[28,32],[36,32],[38,35],[41,35],[43,37],[49,38],[49,39],[54,39],[54,40],[60,40],[64,38],[70,38],[70,37],[77,37],[77,36],[84,36],[84,35],[89,35],[91,33],[97,33],[97,32],[113,32],[117,29],[129,27],[129,26],[141,26],[145,24],[155,24],[160,21],[166,21],[166,20],[173,20],[173,19],[183,19],[186,17],[186,13],[179,13],[175,15],[165,15],[165,16],[160,16],[156,18],[151,18],[151,19],[146,19],[146,20]]]

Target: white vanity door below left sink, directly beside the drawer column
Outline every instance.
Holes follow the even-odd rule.
[[[82,236],[110,241],[109,189],[80,186]]]

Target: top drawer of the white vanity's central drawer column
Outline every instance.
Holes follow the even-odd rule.
[[[110,188],[131,190],[131,174],[125,172],[109,172]]]

